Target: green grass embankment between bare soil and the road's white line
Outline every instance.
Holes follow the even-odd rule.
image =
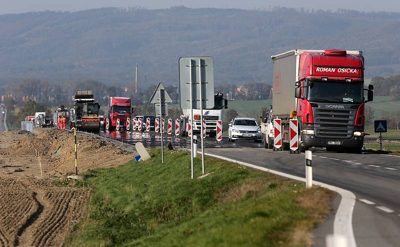
[[[88,171],[89,215],[67,246],[309,246],[332,192],[206,158],[160,150],[146,162]],[[201,162],[195,159],[195,174]]]

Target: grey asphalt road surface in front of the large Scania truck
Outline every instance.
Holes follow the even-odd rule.
[[[273,152],[261,143],[223,138],[206,152],[304,177],[304,155]],[[353,231],[358,247],[400,246],[400,157],[313,151],[313,179],[353,192]],[[319,245],[318,245],[319,246]]]

